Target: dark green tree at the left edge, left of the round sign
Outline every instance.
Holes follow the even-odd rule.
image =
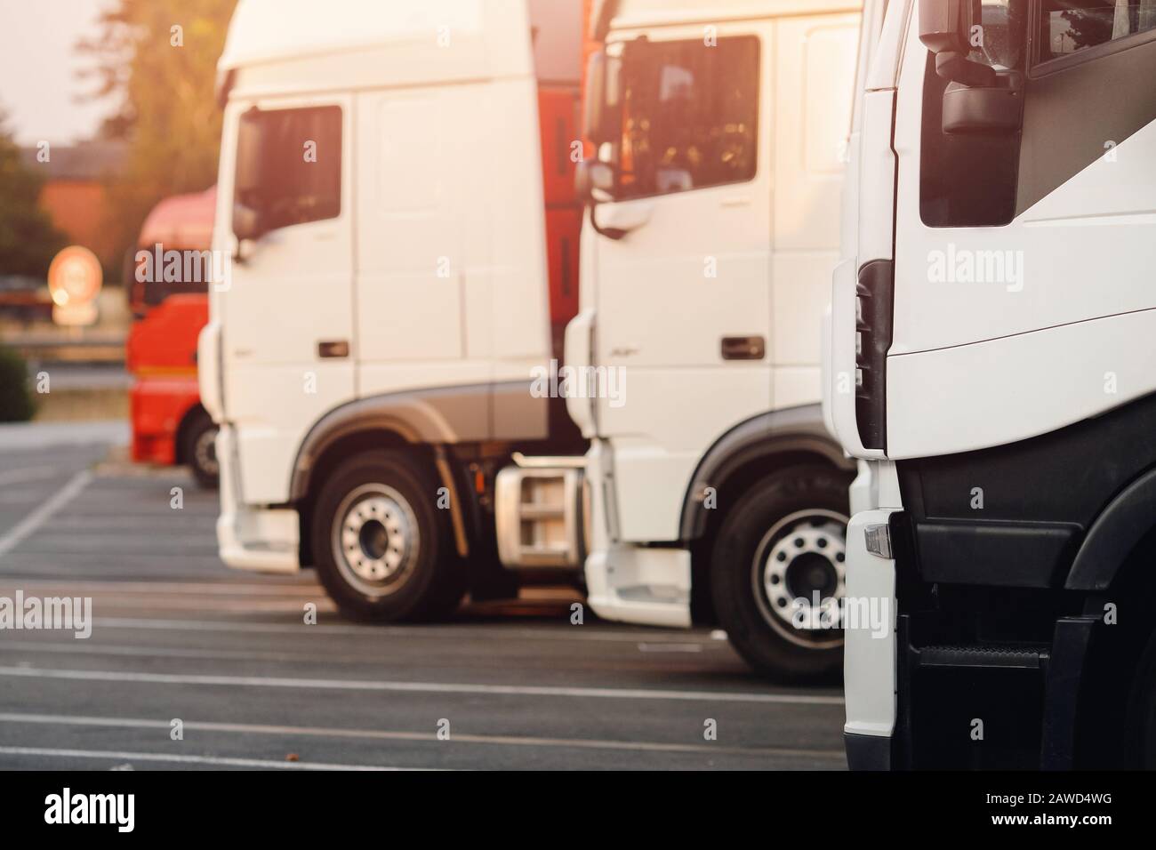
[[[0,275],[44,278],[65,235],[39,207],[40,175],[20,157],[0,112]]]

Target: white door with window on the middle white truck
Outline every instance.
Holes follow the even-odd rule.
[[[771,405],[772,28],[647,35],[607,46],[622,133],[613,201],[594,210],[610,236],[593,360],[620,376],[596,404],[621,534],[669,540],[702,452]]]

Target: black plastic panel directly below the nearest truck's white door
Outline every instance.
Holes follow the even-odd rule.
[[[1031,439],[897,461],[916,571],[993,586],[1109,586],[1156,526],[1154,426],[1149,394]]]

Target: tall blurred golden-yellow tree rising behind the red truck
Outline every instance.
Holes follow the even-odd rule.
[[[116,0],[99,32],[77,50],[94,60],[94,98],[117,98],[104,138],[129,145],[126,170],[108,184],[106,227],[133,247],[162,198],[216,179],[221,112],[216,62],[237,0]]]

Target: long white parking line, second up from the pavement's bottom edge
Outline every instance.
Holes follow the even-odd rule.
[[[28,715],[0,714],[0,723],[35,723],[61,726],[102,726],[111,729],[170,729],[169,720],[150,720],[129,717],[92,717],[88,715]],[[386,741],[433,741],[439,746],[435,732],[400,732],[378,729],[334,729],[327,726],[276,726],[252,723],[213,723],[203,720],[185,720],[186,731],[194,732],[237,732],[242,734],[299,736],[309,738],[355,738],[364,740]],[[647,753],[710,753],[759,756],[803,756],[816,759],[843,759],[842,749],[800,749],[798,747],[727,747],[716,744],[662,744],[655,741],[613,741],[592,738],[533,738],[528,736],[480,736],[454,732],[450,739],[453,744],[490,744],[518,747],[561,747],[576,749],[622,749]]]

